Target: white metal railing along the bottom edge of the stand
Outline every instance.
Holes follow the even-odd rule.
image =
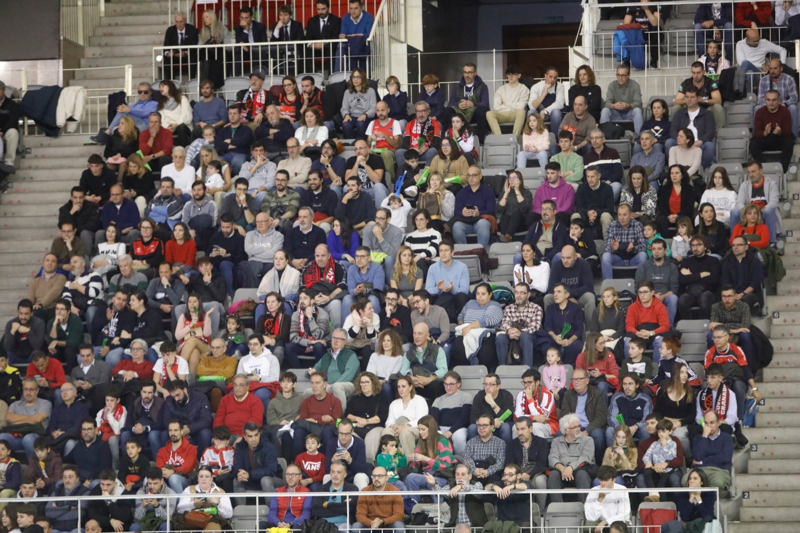
[[[166,482],[165,482],[165,485],[166,485]],[[649,493],[651,491],[656,491],[656,490],[658,492],[661,492],[661,493],[670,493],[670,494],[689,491],[689,489],[685,488],[685,487],[682,487],[682,488],[666,488],[666,487],[662,488],[662,487],[659,487],[658,489],[649,489],[649,488],[617,489],[617,488],[612,488],[612,489],[603,489],[603,492],[609,493],[609,492],[624,491],[630,496],[631,494],[635,494],[635,493],[647,494],[647,493]],[[725,523],[724,517],[722,517],[720,515],[719,489],[717,487],[694,488],[694,489],[692,489],[692,491],[714,493],[717,496],[716,503],[714,505],[714,513],[715,513],[715,515],[716,515],[718,520],[720,520],[722,523]],[[537,496],[541,496],[541,495],[545,495],[546,496],[546,495],[554,495],[554,494],[575,496],[575,495],[588,494],[588,493],[590,493],[590,491],[586,491],[586,490],[583,490],[583,489],[547,489],[547,490],[531,489],[531,490],[528,490],[528,491],[512,491],[513,495],[523,495],[524,494],[524,495],[528,496],[528,499],[529,499],[528,509],[529,509],[529,516],[530,516],[530,524],[534,524],[536,522],[541,523],[542,525],[540,527],[534,527],[532,529],[535,529],[537,531],[542,531],[542,533],[545,533],[545,531],[547,529],[549,529],[549,528],[546,527],[546,523],[545,523],[546,509],[540,509],[541,515],[536,515],[536,517],[535,517],[536,520],[534,520],[534,506],[533,506],[533,503],[535,502],[535,499],[536,499]],[[301,493],[301,494],[305,495],[306,497],[313,498],[313,497],[325,497],[326,495],[329,495],[330,493],[326,493],[326,492],[306,492],[306,493]],[[338,496],[343,496],[345,498],[350,498],[350,496],[352,496],[354,498],[358,498],[358,496],[363,495],[363,493],[360,492],[360,491],[342,491],[342,492],[337,492],[335,494],[338,495]],[[396,496],[396,495],[398,495],[398,492],[397,491],[370,491],[368,494],[370,496]],[[448,505],[448,503],[446,503],[444,501],[444,497],[443,496],[445,496],[446,493],[443,492],[443,491],[420,491],[418,494],[419,495],[434,496],[434,500],[438,504],[438,508],[439,508],[438,516],[442,515],[442,513],[441,513],[442,506]],[[436,498],[435,497],[436,495],[442,496],[442,498]],[[493,495],[495,495],[495,492],[494,491],[470,491],[470,495],[493,496]],[[164,500],[166,500],[166,516],[167,516],[167,519],[166,519],[166,533],[169,533],[170,531],[174,531],[174,529],[172,528],[172,519],[173,519],[174,511],[178,507],[178,500],[181,498],[181,496],[182,495],[180,495],[180,494],[175,494],[175,495],[166,495],[166,494],[125,495],[125,494],[121,494],[121,495],[114,495],[114,499],[116,499],[116,500],[130,500],[130,499],[133,499],[133,500],[164,499]],[[237,526],[240,525],[238,523],[239,521],[245,520],[247,518],[253,520],[253,522],[250,523],[250,524],[248,524],[248,523],[241,524],[244,527],[241,527],[241,528],[234,527],[234,531],[255,531],[255,532],[258,532],[258,531],[262,531],[262,527],[259,527],[259,522],[263,521],[264,519],[266,519],[266,516],[262,516],[262,514],[260,512],[261,507],[264,506],[264,504],[261,503],[261,501],[260,501],[262,499],[262,497],[270,497],[270,498],[284,497],[284,498],[286,498],[286,492],[284,492],[284,493],[278,493],[278,492],[226,493],[226,496],[228,496],[230,498],[242,498],[242,497],[255,498],[255,513],[254,513],[254,516],[248,515],[246,517],[235,517],[235,515],[236,515],[236,513],[235,513],[236,507],[234,507],[234,517],[237,518],[237,524],[236,524]],[[46,502],[48,504],[50,504],[50,503],[54,503],[54,502],[65,502],[65,501],[74,502],[74,501],[77,500],[78,501],[78,518],[76,520],[76,525],[77,525],[78,523],[83,523],[83,516],[82,515],[83,515],[83,513],[86,512],[85,509],[83,508],[84,504],[86,504],[89,501],[93,501],[93,500],[105,501],[107,499],[108,499],[107,495],[105,495],[105,496],[104,495],[96,495],[96,496],[89,496],[89,495],[83,495],[83,496],[59,496],[59,497],[47,497],[46,498]],[[19,503],[19,501],[20,500],[18,498],[0,498],[0,503],[3,503],[3,504],[4,503]],[[346,517],[347,517],[347,523],[352,524],[352,523],[354,523],[356,521],[355,517],[350,515],[350,505],[346,506]],[[575,518],[580,520],[581,523],[580,524],[576,523],[574,526],[566,526],[566,527],[563,526],[563,525],[559,526],[558,527],[558,531],[562,531],[562,533],[566,533],[566,531],[570,531],[570,533],[578,533],[578,531],[582,531],[582,528],[584,526],[583,522],[585,521],[584,517],[576,515]],[[633,513],[631,513],[631,519],[632,519],[632,522],[638,523],[638,520],[634,517]],[[680,517],[678,517],[678,519],[680,519]],[[440,533],[443,529],[445,529],[444,524],[442,523],[442,520],[438,520],[437,523],[435,524],[435,526],[433,526],[433,527],[430,527],[430,526],[428,526],[428,527],[425,527],[425,526],[422,526],[422,527],[414,526],[413,528],[414,529],[425,529],[427,531],[437,531],[438,533]],[[592,528],[592,529],[594,529],[594,528]],[[347,530],[350,531],[350,528],[348,527]],[[353,530],[353,531],[355,531],[355,530]],[[641,531],[644,531],[644,530],[640,529],[638,531],[641,533]],[[556,533],[556,532],[554,531],[554,533]]]

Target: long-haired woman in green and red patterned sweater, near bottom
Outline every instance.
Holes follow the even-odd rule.
[[[453,445],[446,436],[439,434],[439,425],[431,415],[419,419],[417,429],[419,444],[412,453],[406,451],[408,466],[414,470],[413,474],[406,476],[406,489],[410,492],[428,490],[434,483],[444,487],[447,478],[441,472],[458,463],[453,455]]]

